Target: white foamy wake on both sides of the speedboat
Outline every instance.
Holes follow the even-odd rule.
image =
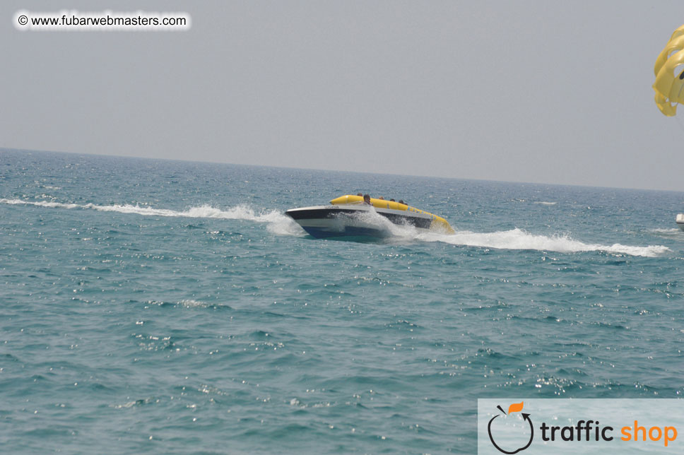
[[[0,199],[0,203],[12,205],[32,205],[50,208],[69,208],[96,210],[103,212],[135,213],[146,216],[168,216],[186,218],[218,218],[225,220],[248,220],[257,223],[266,223],[269,232],[276,235],[292,235],[304,237],[306,232],[295,221],[283,213],[271,210],[257,213],[248,206],[235,206],[222,210],[209,205],[190,207],[185,211],[174,211],[166,208],[153,208],[131,204],[114,204],[112,206],[100,206],[93,203],[76,204],[52,201],[23,201],[21,199]],[[456,231],[454,234],[440,232],[419,232],[411,225],[395,225],[377,213],[369,212],[363,215],[364,223],[373,223],[388,233],[391,241],[422,241],[444,242],[468,247],[483,247],[495,249],[532,249],[539,251],[552,251],[559,253],[577,252],[606,252],[609,254],[628,254],[630,256],[655,257],[666,254],[671,250],[662,245],[649,245],[647,247],[634,247],[615,243],[612,245],[584,243],[574,240],[567,235],[536,235],[521,229],[512,229],[498,232],[471,232]],[[387,240],[386,240],[387,241]]]

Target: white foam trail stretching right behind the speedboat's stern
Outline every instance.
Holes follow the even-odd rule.
[[[668,247],[662,245],[632,247],[619,243],[612,245],[584,243],[579,240],[574,240],[567,235],[536,235],[518,228],[498,232],[457,231],[452,235],[426,232],[419,234],[417,238],[418,240],[424,240],[425,242],[446,242],[450,244],[467,245],[470,247],[537,249],[540,251],[560,253],[601,251],[611,254],[654,257],[671,251]]]

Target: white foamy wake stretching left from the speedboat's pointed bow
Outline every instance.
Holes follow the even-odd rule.
[[[267,223],[267,229],[277,235],[304,235],[304,231],[288,216],[276,210],[255,212],[247,206],[235,206],[228,210],[221,210],[209,205],[190,207],[186,211],[175,211],[167,208],[153,208],[131,204],[114,204],[99,206],[94,203],[76,204],[52,201],[23,201],[22,199],[0,199],[0,203],[12,205],[30,205],[49,208],[81,208],[101,212],[135,213],[145,216],[169,216],[187,218],[220,218],[224,220],[248,220],[257,223]]]

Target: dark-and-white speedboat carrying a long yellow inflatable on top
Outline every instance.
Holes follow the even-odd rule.
[[[328,237],[388,237],[391,225],[413,226],[421,231],[453,234],[444,218],[405,203],[370,199],[346,194],[330,201],[329,206],[290,208],[285,212],[306,232],[317,239]]]

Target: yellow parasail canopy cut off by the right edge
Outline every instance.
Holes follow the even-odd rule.
[[[656,105],[660,112],[671,117],[677,113],[677,104],[684,102],[684,25],[672,34],[653,70]]]

